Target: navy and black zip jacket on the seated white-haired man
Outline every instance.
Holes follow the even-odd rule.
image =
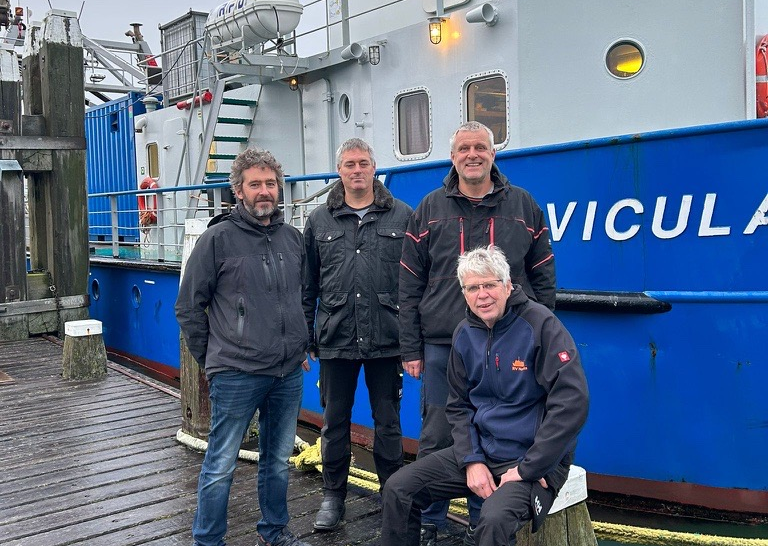
[[[535,481],[570,456],[589,394],[573,338],[520,288],[492,329],[470,311],[459,323],[446,411],[461,467],[519,462],[520,476]]]

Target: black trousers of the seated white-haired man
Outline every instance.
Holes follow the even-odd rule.
[[[568,466],[560,465],[551,475],[559,490],[568,477]],[[498,483],[500,475],[496,478]],[[475,529],[476,546],[514,546],[516,533],[531,519],[531,485],[508,482],[485,499]],[[470,493],[453,447],[406,465],[382,492],[381,546],[417,546],[421,510]]]

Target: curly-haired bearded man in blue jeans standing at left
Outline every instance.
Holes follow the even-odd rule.
[[[257,546],[308,546],[288,531],[288,458],[301,408],[307,324],[301,234],[283,222],[283,170],[246,150],[230,174],[237,205],[214,218],[187,260],[176,317],[210,383],[211,431],[197,490],[196,546],[220,546],[240,444],[259,410]]]

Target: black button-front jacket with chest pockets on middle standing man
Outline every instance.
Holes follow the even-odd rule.
[[[412,210],[376,179],[373,189],[361,220],[345,205],[339,180],[304,228],[304,314],[321,358],[400,354],[398,270]]]

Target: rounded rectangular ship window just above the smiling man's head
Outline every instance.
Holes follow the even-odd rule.
[[[507,140],[507,82],[495,74],[469,80],[464,87],[467,121],[479,121],[493,131],[494,143]]]

